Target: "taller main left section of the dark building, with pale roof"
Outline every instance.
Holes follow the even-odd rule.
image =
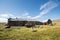
[[[34,26],[34,25],[35,25],[35,21],[18,19],[18,18],[15,18],[15,19],[9,18],[7,28],[9,28],[11,26],[27,26],[27,27],[31,27],[31,26]]]

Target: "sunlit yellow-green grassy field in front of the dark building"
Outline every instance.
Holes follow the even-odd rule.
[[[34,28],[36,32],[32,32],[32,28],[26,27],[11,27],[4,28],[0,26],[0,40],[60,40],[60,20],[55,20],[54,26],[41,25],[39,28]]]

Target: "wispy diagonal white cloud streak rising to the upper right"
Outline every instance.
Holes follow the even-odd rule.
[[[34,19],[38,19],[40,17],[42,17],[43,15],[47,14],[49,11],[51,11],[53,8],[57,7],[58,4],[54,1],[48,1],[47,3],[45,3],[44,5],[42,5],[40,7],[40,10],[42,10],[40,12],[39,15],[35,16]]]

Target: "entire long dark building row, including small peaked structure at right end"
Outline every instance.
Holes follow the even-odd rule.
[[[18,19],[18,18],[9,18],[7,28],[10,28],[11,26],[27,26],[27,27],[33,27],[35,25],[48,25],[52,24],[52,21],[48,19],[47,22],[40,22],[40,21],[34,21],[34,20],[24,20],[24,19]]]

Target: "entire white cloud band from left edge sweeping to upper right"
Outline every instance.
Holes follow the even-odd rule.
[[[52,1],[52,0],[48,1],[47,3],[43,4],[40,7],[41,12],[39,13],[39,15],[35,17],[30,16],[28,12],[25,12],[23,15],[20,15],[20,16],[17,16],[17,15],[15,16],[14,14],[10,14],[10,13],[0,14],[0,22],[7,22],[8,18],[16,18],[16,17],[25,18],[27,20],[37,20],[57,6],[58,6],[58,3],[56,3],[55,1]]]

